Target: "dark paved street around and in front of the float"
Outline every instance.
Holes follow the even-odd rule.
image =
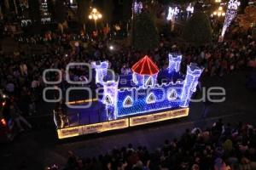
[[[226,89],[223,103],[209,106],[207,119],[201,119],[202,103],[192,103],[189,117],[160,122],[154,125],[137,127],[125,131],[85,136],[67,141],[56,139],[55,127],[50,113],[34,116],[29,120],[34,128],[20,134],[11,144],[1,145],[0,167],[12,169],[43,169],[53,163],[63,165],[67,150],[73,150],[78,156],[98,156],[113,147],[132,143],[145,145],[149,150],[160,146],[165,139],[177,138],[186,128],[211,126],[218,118],[233,125],[239,121],[254,123],[256,100],[255,92],[245,88],[246,72],[239,71],[231,76],[203,79],[203,86],[221,86]],[[45,108],[44,108],[45,109]],[[14,162],[10,163],[10,162]],[[39,168],[38,168],[39,167]]]

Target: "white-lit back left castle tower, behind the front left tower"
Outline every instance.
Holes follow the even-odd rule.
[[[96,71],[96,83],[102,84],[103,77],[107,75],[108,61],[94,61],[91,62],[90,65]]]

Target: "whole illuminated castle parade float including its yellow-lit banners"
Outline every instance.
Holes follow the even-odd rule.
[[[203,70],[192,63],[183,75],[180,73],[182,55],[168,57],[166,69],[160,70],[146,55],[132,66],[131,74],[120,76],[108,70],[108,61],[92,62],[101,95],[91,99],[94,104],[89,109],[80,111],[79,124],[58,127],[59,139],[188,116],[189,101]],[[91,116],[101,118],[97,122],[83,122],[80,119],[86,112],[95,112]]]

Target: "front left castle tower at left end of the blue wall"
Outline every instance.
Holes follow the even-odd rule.
[[[118,96],[119,76],[113,71],[108,71],[102,79],[104,93],[102,103],[106,105],[108,120],[116,119],[116,105]]]

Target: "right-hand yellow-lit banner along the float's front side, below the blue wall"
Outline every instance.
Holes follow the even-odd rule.
[[[155,113],[151,115],[145,115],[145,116],[135,116],[130,117],[130,127],[134,127],[137,125],[143,125],[151,122],[161,122],[166,121],[182,116],[188,116],[189,115],[189,108],[175,110],[175,111],[163,111],[160,113]]]

